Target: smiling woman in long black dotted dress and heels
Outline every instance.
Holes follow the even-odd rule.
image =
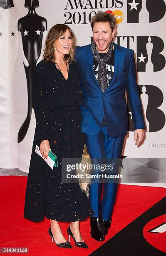
[[[79,220],[94,214],[78,183],[62,183],[62,158],[81,158],[84,137],[81,133],[81,91],[76,62],[75,38],[71,29],[57,24],[46,38],[43,61],[34,74],[33,99],[36,129],[27,180],[24,217],[38,222],[50,219],[49,234],[58,246],[71,248],[58,221],[71,222],[67,233],[75,244],[87,248],[79,231]],[[53,170],[35,153],[40,146],[44,158],[49,149],[57,155]],[[65,170],[64,170],[65,171]]]

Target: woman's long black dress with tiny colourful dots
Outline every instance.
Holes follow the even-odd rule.
[[[24,217],[38,222],[46,218],[64,222],[85,220],[94,212],[79,184],[61,182],[61,159],[81,158],[81,91],[75,61],[65,80],[53,62],[41,61],[34,75],[36,129],[27,180]],[[59,166],[53,170],[35,153],[36,145],[48,139]]]

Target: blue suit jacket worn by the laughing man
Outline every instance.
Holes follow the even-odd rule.
[[[134,129],[145,129],[144,115],[136,83],[134,51],[114,44],[114,77],[103,93],[93,71],[91,44],[77,47],[76,61],[82,90],[82,132],[96,134],[102,129],[103,117],[111,137],[127,134],[125,91],[132,111]]]

